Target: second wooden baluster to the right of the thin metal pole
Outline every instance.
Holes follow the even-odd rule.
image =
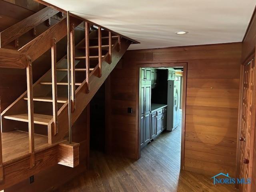
[[[87,84],[87,93],[90,92],[90,56],[89,56],[89,30],[90,24],[88,22],[84,22],[85,24],[85,61],[86,61],[86,84]]]

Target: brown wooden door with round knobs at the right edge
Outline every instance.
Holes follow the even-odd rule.
[[[255,65],[254,60],[244,67],[239,178],[252,178],[252,158],[255,127]],[[241,192],[250,192],[251,184],[241,184]]]

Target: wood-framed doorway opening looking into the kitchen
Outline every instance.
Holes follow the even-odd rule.
[[[184,168],[186,67],[179,63],[139,67],[139,158],[152,145],[164,149],[163,155],[172,155],[179,170]]]

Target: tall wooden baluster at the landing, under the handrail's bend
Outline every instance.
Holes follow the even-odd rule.
[[[28,139],[30,152],[30,168],[35,166],[35,146],[34,146],[34,104],[33,104],[33,79],[32,79],[32,61],[27,56],[27,94],[28,94]]]

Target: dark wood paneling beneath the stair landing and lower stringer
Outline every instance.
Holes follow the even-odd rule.
[[[70,168],[62,165],[52,166],[34,175],[34,182],[29,183],[29,178],[24,181],[4,189],[5,192],[45,192],[53,191],[74,176],[84,172],[89,163],[89,131],[90,131],[90,106],[88,105],[78,120],[72,126],[72,141],[80,143],[79,165]]]

